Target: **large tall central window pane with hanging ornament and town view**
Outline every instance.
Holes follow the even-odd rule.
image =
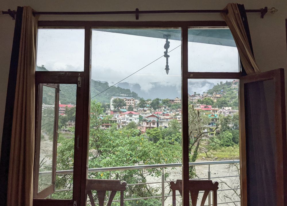
[[[169,181],[181,179],[181,29],[93,29],[91,78],[88,178],[126,181],[125,205],[162,205],[162,192],[171,205]],[[166,163],[177,165],[162,176]]]

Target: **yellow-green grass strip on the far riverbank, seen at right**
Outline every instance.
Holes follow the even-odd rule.
[[[207,156],[208,155],[208,156]],[[218,150],[210,150],[205,153],[198,153],[198,159],[207,159],[207,160],[233,160],[239,159],[239,145],[234,145],[231,147],[222,147]],[[203,158],[204,157],[204,158]],[[217,158],[216,158],[217,157]]]

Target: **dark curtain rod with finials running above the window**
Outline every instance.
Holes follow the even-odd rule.
[[[261,18],[269,11],[274,14],[278,9],[267,7],[261,9],[245,9],[247,13],[261,13]],[[154,11],[139,11],[138,8],[135,11],[34,11],[34,15],[105,15],[105,14],[135,14],[135,19],[139,19],[139,14],[171,14],[171,13],[228,13],[227,9],[222,10],[154,10]],[[15,10],[8,9],[8,11],[2,11],[2,14],[9,14],[15,19]]]

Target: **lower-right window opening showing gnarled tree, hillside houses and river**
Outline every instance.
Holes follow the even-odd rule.
[[[216,161],[190,165],[189,178],[217,181],[219,204],[240,205],[238,83],[236,79],[188,80],[189,162]]]

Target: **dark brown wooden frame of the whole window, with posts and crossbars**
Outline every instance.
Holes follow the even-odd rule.
[[[36,81],[44,80],[44,76],[53,76],[54,82],[66,84],[69,77],[81,74],[86,79],[83,87],[83,105],[82,105],[82,139],[80,141],[82,149],[81,165],[76,167],[77,175],[80,177],[80,190],[76,194],[77,205],[86,203],[86,178],[88,165],[88,143],[89,143],[89,110],[90,110],[90,73],[91,73],[91,38],[92,28],[181,28],[181,53],[182,53],[182,158],[183,158],[183,205],[189,205],[189,151],[188,151],[188,79],[239,79],[245,76],[244,72],[189,72],[188,71],[188,28],[192,27],[227,27],[224,21],[38,21],[38,28],[84,28],[84,72],[36,72]],[[50,78],[51,79],[51,78]],[[65,80],[65,82],[61,82]],[[51,82],[46,82],[51,83]],[[77,105],[78,107],[78,105]],[[185,137],[185,138],[184,138]],[[75,176],[75,174],[74,174]],[[40,203],[41,201],[39,201]],[[41,202],[43,206],[43,202]],[[49,203],[47,202],[47,205]],[[38,204],[34,204],[38,205]]]

